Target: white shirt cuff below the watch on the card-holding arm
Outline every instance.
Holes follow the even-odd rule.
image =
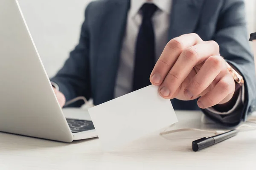
[[[216,111],[213,107],[207,108],[206,110],[211,113],[214,113],[214,114],[227,115],[227,114],[230,114],[230,113],[233,113],[234,111],[236,111],[237,108],[241,106],[241,104],[244,104],[244,85],[242,85],[242,88],[240,88],[240,90],[239,90],[239,95],[237,97],[235,105],[229,111],[219,112],[219,111]]]

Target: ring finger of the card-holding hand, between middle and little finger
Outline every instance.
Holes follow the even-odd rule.
[[[227,66],[221,56],[209,57],[198,73],[185,88],[184,94],[188,99],[196,99],[224,71],[227,74]],[[217,81],[219,81],[217,79]]]

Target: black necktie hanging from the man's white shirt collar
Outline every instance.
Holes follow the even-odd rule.
[[[155,64],[154,28],[151,19],[157,6],[145,3],[140,10],[143,20],[135,50],[133,91],[151,85],[149,77]]]

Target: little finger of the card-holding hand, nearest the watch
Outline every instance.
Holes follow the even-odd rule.
[[[235,82],[230,74],[222,77],[217,85],[207,94],[198,99],[198,106],[202,109],[212,107],[220,104],[221,102],[228,102],[235,89]]]

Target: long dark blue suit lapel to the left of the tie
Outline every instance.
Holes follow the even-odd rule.
[[[97,51],[97,98],[99,103],[113,99],[122,40],[125,34],[130,0],[109,1]],[[99,104],[98,103],[98,104]]]

